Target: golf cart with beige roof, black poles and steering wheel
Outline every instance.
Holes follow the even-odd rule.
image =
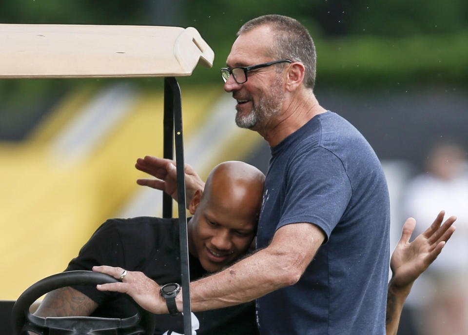
[[[214,52],[195,28],[111,25],[0,24],[0,79],[21,78],[164,78],[164,158],[177,163],[180,267],[184,334],[192,334],[183,129],[180,88],[175,77],[190,76],[198,62],[213,65]],[[163,217],[172,217],[172,198],[163,196]],[[43,318],[30,313],[40,296],[70,285],[96,285],[117,279],[92,272],[49,276],[19,299],[0,301],[2,334],[152,334],[151,313],[140,310],[122,319]],[[11,314],[11,323],[10,323]]]

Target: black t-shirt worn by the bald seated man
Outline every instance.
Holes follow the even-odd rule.
[[[189,255],[190,280],[208,273],[197,258]],[[121,267],[141,271],[159,285],[181,282],[179,232],[177,219],[135,217],[109,219],[81,248],[65,271],[91,270],[95,265]],[[92,316],[124,317],[135,314],[125,295],[101,292],[94,286],[74,287],[99,304]],[[218,310],[196,312],[200,322],[197,335],[255,335],[254,303],[245,303]],[[156,315],[155,335],[167,330],[183,333],[181,315]]]

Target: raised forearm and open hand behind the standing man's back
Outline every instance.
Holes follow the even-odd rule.
[[[416,280],[441,253],[442,248],[455,231],[456,217],[449,217],[441,226],[445,212],[441,211],[430,227],[411,243],[409,238],[416,221],[410,217],[390,259],[392,276],[387,297],[387,335],[396,335],[403,305]]]

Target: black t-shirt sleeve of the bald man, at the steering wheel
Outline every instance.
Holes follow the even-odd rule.
[[[87,270],[91,271],[95,265],[109,265],[125,267],[122,264],[122,241],[113,220],[104,222],[81,248],[77,257],[73,258],[65,271]],[[101,304],[115,293],[101,292],[94,285],[73,286],[81,293]]]

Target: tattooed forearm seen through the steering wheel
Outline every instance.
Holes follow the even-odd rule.
[[[71,287],[54,290],[45,296],[38,310],[37,316],[88,316],[98,304]]]

